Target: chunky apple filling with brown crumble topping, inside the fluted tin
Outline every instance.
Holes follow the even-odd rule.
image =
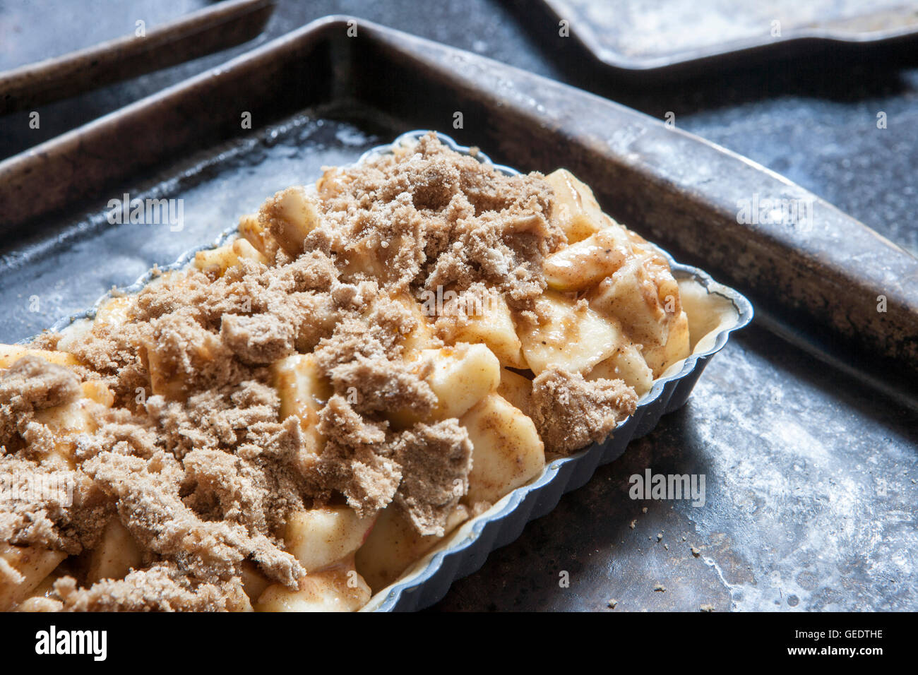
[[[429,134],[0,347],[0,609],[352,611],[601,442],[689,320],[559,169]]]

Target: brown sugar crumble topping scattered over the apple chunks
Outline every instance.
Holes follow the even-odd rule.
[[[493,290],[514,321],[540,321],[543,260],[567,243],[552,187],[429,135],[327,170],[302,216],[314,222],[305,237],[285,218],[285,192],[246,236],[260,257],[166,273],[117,298],[119,321],[100,313],[30,345],[72,364],[27,355],[0,370],[0,477],[73,485],[72,503],[0,501],[2,542],[69,556],[47,608],[251,609],[247,569],[288,589],[308,575],[285,549],[291,513],[346,503],[364,517],[391,503],[417,533],[442,536],[463,501],[473,444],[457,419],[430,417],[431,366],[410,342],[425,318],[405,298]],[[442,345],[430,327],[425,346]],[[296,354],[327,387],[309,402],[311,424],[282,414],[276,388],[272,365]],[[527,412],[551,454],[603,441],[635,410],[621,379],[560,366],[529,377]],[[83,425],[64,433],[45,411],[77,399]],[[140,561],[123,579],[90,581],[88,552],[113,522]]]

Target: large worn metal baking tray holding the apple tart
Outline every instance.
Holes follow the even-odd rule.
[[[255,129],[241,129],[243,112]],[[711,364],[687,407],[443,606],[487,606],[499,579],[545,608],[604,607],[609,587],[623,607],[649,609],[914,608],[914,258],[710,143],[359,19],[310,24],[0,164],[0,339],[37,332],[213,238],[274,189],[416,128],[523,170],[571,168],[612,215],[752,295],[762,318]],[[106,204],[124,192],[183,197],[185,229],[109,225]],[[737,200],[754,195],[814,199],[812,228],[738,223]],[[705,473],[707,506],[630,501],[627,476],[644,467]],[[575,536],[590,551],[616,546],[616,563],[585,554]],[[553,565],[539,557],[546,541],[579,553]],[[557,569],[572,572],[569,590],[558,590]]]

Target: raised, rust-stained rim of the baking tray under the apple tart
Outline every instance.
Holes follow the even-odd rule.
[[[523,171],[566,166],[594,186],[610,215],[743,292],[787,340],[918,406],[912,255],[780,175],[681,129],[353,17],[314,21],[0,163],[0,232],[39,231],[55,213],[94,200],[103,208],[130,177],[251,134],[241,129],[243,112],[260,129],[317,105],[379,111],[398,131],[448,129]],[[752,203],[806,204],[812,221],[741,221],[737,205]],[[46,314],[53,320],[85,304],[44,307],[63,309]],[[36,318],[20,308],[8,320]]]

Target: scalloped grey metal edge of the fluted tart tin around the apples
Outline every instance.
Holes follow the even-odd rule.
[[[426,133],[426,129],[407,131],[392,143],[379,145],[364,152],[352,165],[363,163],[380,154],[393,152],[399,146],[413,144]],[[439,131],[434,133],[453,151],[475,157],[481,163],[492,165],[502,174],[520,173],[509,166],[493,163],[487,154],[477,148],[459,145]],[[138,293],[163,273],[183,269],[192,264],[197,252],[216,248],[234,239],[237,234],[236,225],[222,231],[214,242],[186,251],[172,264],[152,268],[129,286],[113,288],[98,298],[90,309],[75,312],[55,321],[49,330],[61,332],[77,321],[95,318],[97,309],[109,298]],[[586,484],[599,465],[617,459],[633,438],[639,438],[653,430],[666,412],[681,408],[711,356],[723,348],[731,332],[743,328],[752,321],[752,304],[742,294],[719,284],[697,267],[678,264],[669,253],[659,247],[655,248],[664,255],[676,273],[674,276],[677,280],[694,280],[700,283],[709,295],[719,295],[728,300],[735,312],[733,323],[724,326],[722,322],[713,343],[707,349],[696,349],[682,362],[680,368],[675,370],[670,367],[664,375],[656,378],[653,387],[638,400],[634,414],[620,422],[615,433],[603,443],[590,444],[575,455],[548,462],[542,475],[531,483],[511,491],[487,512],[460,525],[452,534],[447,535],[441,545],[415,562],[399,579],[386,589],[376,592],[362,611],[414,611],[441,600],[455,579],[475,572],[484,564],[491,551],[506,546],[519,537],[526,523],[551,512],[565,492]],[[35,336],[28,337],[17,343],[29,343],[34,338]]]

